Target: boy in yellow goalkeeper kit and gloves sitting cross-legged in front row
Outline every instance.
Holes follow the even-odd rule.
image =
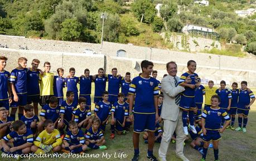
[[[36,154],[59,152],[62,144],[60,132],[57,129],[54,129],[52,120],[45,120],[44,127],[45,130],[37,136],[34,145],[31,147],[31,151]]]

